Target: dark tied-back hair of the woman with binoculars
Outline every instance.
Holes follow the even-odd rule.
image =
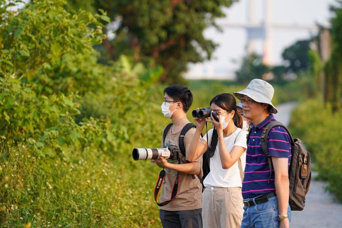
[[[242,116],[236,110],[236,101],[232,94],[230,93],[218,94],[211,100],[210,105],[212,105],[213,103],[228,112],[231,112],[234,110],[235,111],[235,114],[233,117],[234,124],[235,126],[242,128],[242,124],[243,124]]]

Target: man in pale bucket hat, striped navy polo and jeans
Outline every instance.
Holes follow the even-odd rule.
[[[272,104],[274,88],[260,79],[233,93],[243,105],[243,116],[251,121],[247,142],[246,168],[242,182],[244,214],[241,228],[288,228],[291,220],[288,167],[291,162],[291,144],[287,131],[274,127],[267,138],[273,169],[270,173],[267,156],[261,149],[264,127],[275,121],[272,113],[278,110]]]

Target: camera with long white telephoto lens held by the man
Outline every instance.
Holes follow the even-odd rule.
[[[176,145],[165,148],[134,148],[132,151],[133,160],[157,160],[160,157],[171,160],[184,160],[182,152]]]

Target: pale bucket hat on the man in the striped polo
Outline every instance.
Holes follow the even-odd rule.
[[[241,100],[243,95],[246,95],[258,103],[269,104],[272,106],[269,110],[270,113],[278,112],[277,108],[271,102],[274,94],[273,86],[261,79],[253,79],[244,90],[233,92],[233,94],[239,100]]]

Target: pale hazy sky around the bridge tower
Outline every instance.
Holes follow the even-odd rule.
[[[186,78],[199,79],[234,79],[234,72],[239,68],[242,58],[246,55],[247,33],[243,27],[227,24],[246,24],[248,22],[248,4],[250,0],[239,0],[231,7],[225,8],[226,18],[217,20],[223,26],[223,32],[214,28],[204,31],[207,39],[215,41],[219,46],[214,51],[211,61],[189,64]],[[264,21],[265,2],[267,0],[252,0],[253,14],[256,22]],[[301,25],[315,27],[315,24],[329,26],[331,13],[329,5],[335,0],[269,0],[270,21],[272,24]],[[316,35],[314,30],[273,28],[271,33],[272,51],[270,51],[270,64],[282,63],[281,53],[284,48],[298,40],[306,40]],[[262,54],[263,42],[256,41],[256,53]]]

